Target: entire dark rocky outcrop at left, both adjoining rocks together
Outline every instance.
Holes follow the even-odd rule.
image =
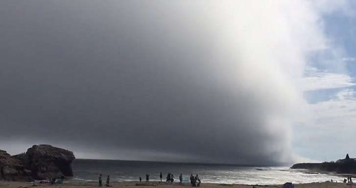
[[[50,145],[33,145],[11,156],[0,150],[0,180],[31,181],[73,176],[72,151]]]

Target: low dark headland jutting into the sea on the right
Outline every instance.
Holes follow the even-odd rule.
[[[291,168],[302,168],[315,171],[328,171],[335,173],[356,173],[356,160],[349,157],[347,154],[345,159],[337,160],[337,162],[324,163],[299,163]]]

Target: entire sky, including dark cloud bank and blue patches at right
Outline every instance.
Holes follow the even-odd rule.
[[[0,1],[0,148],[289,165],[356,157],[356,3]]]

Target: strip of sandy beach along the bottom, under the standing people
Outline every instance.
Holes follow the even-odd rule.
[[[138,182],[113,182],[111,183],[112,188],[151,188],[151,187],[160,187],[160,188],[179,188],[185,187],[190,188],[189,183],[184,183],[179,185],[178,183],[166,184],[166,183],[150,183],[148,185],[141,184],[137,186]],[[0,188],[97,188],[96,182],[70,182],[63,184],[40,184],[40,183],[27,183],[27,182],[0,182]],[[240,185],[240,184],[204,184],[202,183],[201,188],[253,188],[251,185]],[[270,188],[282,188],[282,185],[269,185],[269,186],[255,186],[256,188],[270,187]],[[104,188],[104,187],[103,187]],[[345,183],[307,183],[307,184],[294,184],[294,188],[351,188]]]

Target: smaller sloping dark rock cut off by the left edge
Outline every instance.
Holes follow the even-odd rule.
[[[31,181],[30,171],[24,169],[19,159],[0,150],[0,180]]]

